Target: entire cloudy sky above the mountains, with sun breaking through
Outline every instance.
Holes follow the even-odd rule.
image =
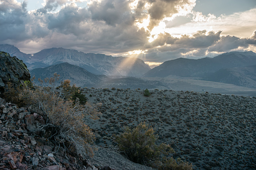
[[[137,57],[256,52],[256,0],[0,0],[0,44]]]

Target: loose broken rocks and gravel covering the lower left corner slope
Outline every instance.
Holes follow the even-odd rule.
[[[152,169],[104,147],[98,147],[90,159],[88,155],[74,156],[44,137],[47,134],[36,132],[44,124],[44,116],[32,107],[19,108],[0,98],[0,169]],[[99,159],[101,164],[97,163]]]

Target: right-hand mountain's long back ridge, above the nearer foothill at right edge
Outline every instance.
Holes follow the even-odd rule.
[[[224,68],[245,67],[256,64],[256,54],[249,52],[230,52],[214,58],[198,60],[179,58],[169,60],[148,71],[144,77],[166,77],[175,75],[180,77],[203,78]]]

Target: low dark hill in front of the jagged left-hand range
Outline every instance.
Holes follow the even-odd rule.
[[[96,75],[81,67],[69,63],[60,63],[46,68],[37,68],[30,71],[31,77],[35,76],[35,84],[40,84],[38,78],[44,80],[45,78],[52,77],[54,73],[60,75],[59,83],[69,79],[71,85],[76,84],[76,86],[79,87],[167,89],[167,87],[159,81],[148,81],[135,77],[121,76],[121,78],[113,78],[112,76]],[[59,85],[59,83],[57,83],[57,85]]]

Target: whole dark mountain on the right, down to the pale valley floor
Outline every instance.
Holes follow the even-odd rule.
[[[149,70],[144,77],[194,77],[201,80],[256,88],[256,54],[229,52],[214,58],[169,60]]]

